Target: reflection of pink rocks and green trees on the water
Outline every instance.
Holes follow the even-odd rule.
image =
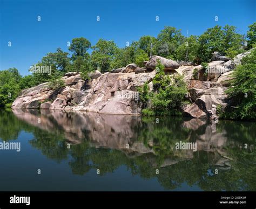
[[[100,169],[104,176],[124,165],[133,176],[157,178],[168,190],[184,182],[206,191],[256,190],[255,123],[208,124],[176,117],[159,117],[156,123],[151,117],[49,110],[13,113],[0,113],[0,138],[15,139],[21,130],[33,133],[30,145],[51,160],[66,160],[73,175]],[[176,150],[179,141],[196,142],[197,151]]]

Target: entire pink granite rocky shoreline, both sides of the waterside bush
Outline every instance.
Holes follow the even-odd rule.
[[[187,83],[187,95],[191,102],[183,108],[184,116],[199,119],[216,120],[218,105],[226,106],[225,90],[230,85],[232,71],[247,53],[238,54],[231,61],[224,56],[213,54],[208,63],[207,72],[201,65],[193,66],[153,56],[140,68],[135,64],[113,69],[107,73],[96,71],[90,73],[90,80],[83,80],[78,72],[68,72],[62,78],[65,87],[50,89],[48,83],[25,89],[12,104],[13,109],[50,109],[65,111],[87,111],[100,114],[140,115],[142,104],[138,100],[137,87],[149,83],[153,89],[152,79],[156,75],[157,60],[165,67],[165,74],[184,75]],[[194,77],[196,69],[198,78]]]

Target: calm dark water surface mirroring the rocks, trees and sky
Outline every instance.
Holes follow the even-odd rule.
[[[255,138],[253,122],[1,110],[21,150],[0,150],[0,190],[255,191]]]

